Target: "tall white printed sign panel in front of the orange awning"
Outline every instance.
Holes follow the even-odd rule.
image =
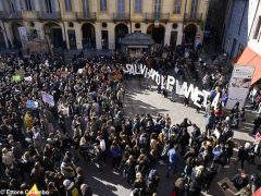
[[[239,102],[239,108],[244,107],[251,85],[253,72],[253,66],[234,66],[228,87],[226,109],[231,110],[236,102]]]

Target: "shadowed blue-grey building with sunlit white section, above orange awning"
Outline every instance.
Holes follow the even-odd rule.
[[[228,0],[222,45],[223,50],[231,59],[241,53],[247,46],[260,53],[260,0]]]

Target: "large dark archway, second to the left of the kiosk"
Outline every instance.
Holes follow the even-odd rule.
[[[82,26],[83,33],[83,47],[87,48],[96,48],[96,32],[94,25],[89,23],[85,23]]]

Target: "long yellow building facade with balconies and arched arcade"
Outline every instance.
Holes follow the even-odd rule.
[[[157,44],[202,42],[209,0],[0,0],[0,46],[50,38],[53,47],[109,48],[125,34],[150,34]]]

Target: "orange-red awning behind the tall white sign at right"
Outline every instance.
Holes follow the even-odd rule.
[[[253,66],[256,69],[251,85],[261,78],[261,56],[252,51],[249,47],[247,47],[243,53],[236,57],[232,62],[235,66]]]

